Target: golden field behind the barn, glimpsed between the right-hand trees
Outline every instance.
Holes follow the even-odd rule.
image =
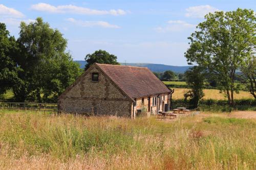
[[[172,88],[175,89],[173,93],[173,99],[184,99],[184,93],[188,91],[187,88]],[[224,100],[225,98],[223,93],[220,93],[216,89],[204,89],[205,96],[203,99],[216,99]],[[239,94],[234,93],[234,99],[253,99],[253,96],[247,91],[240,91]]]

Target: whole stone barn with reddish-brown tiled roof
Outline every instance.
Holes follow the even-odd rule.
[[[170,92],[146,67],[94,63],[59,96],[58,110],[133,118],[166,111]]]

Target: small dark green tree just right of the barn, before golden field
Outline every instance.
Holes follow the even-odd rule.
[[[204,79],[205,74],[203,73],[202,68],[198,66],[190,67],[185,71],[185,81],[190,90],[184,94],[184,97],[185,99],[188,97],[191,98],[190,103],[195,108],[198,107],[199,100],[204,96]]]

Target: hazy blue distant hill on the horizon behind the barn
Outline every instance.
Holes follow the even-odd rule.
[[[84,68],[86,61],[75,61],[80,64],[80,68]],[[121,63],[125,65],[125,63]],[[147,67],[154,72],[164,72],[166,70],[172,70],[174,72],[183,73],[191,66],[173,66],[173,65],[164,65],[164,64],[150,64],[150,63],[126,63],[126,65],[138,66],[138,67]]]

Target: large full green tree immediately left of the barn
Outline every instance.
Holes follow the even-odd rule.
[[[44,98],[56,102],[57,96],[80,74],[79,65],[65,52],[67,40],[38,17],[28,25],[20,23],[17,42],[20,81],[13,87],[15,98],[38,102]]]

